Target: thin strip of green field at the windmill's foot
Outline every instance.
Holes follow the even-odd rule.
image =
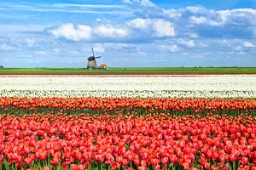
[[[256,67],[173,67],[173,68],[1,68],[0,75],[121,75],[121,74],[256,74]]]

